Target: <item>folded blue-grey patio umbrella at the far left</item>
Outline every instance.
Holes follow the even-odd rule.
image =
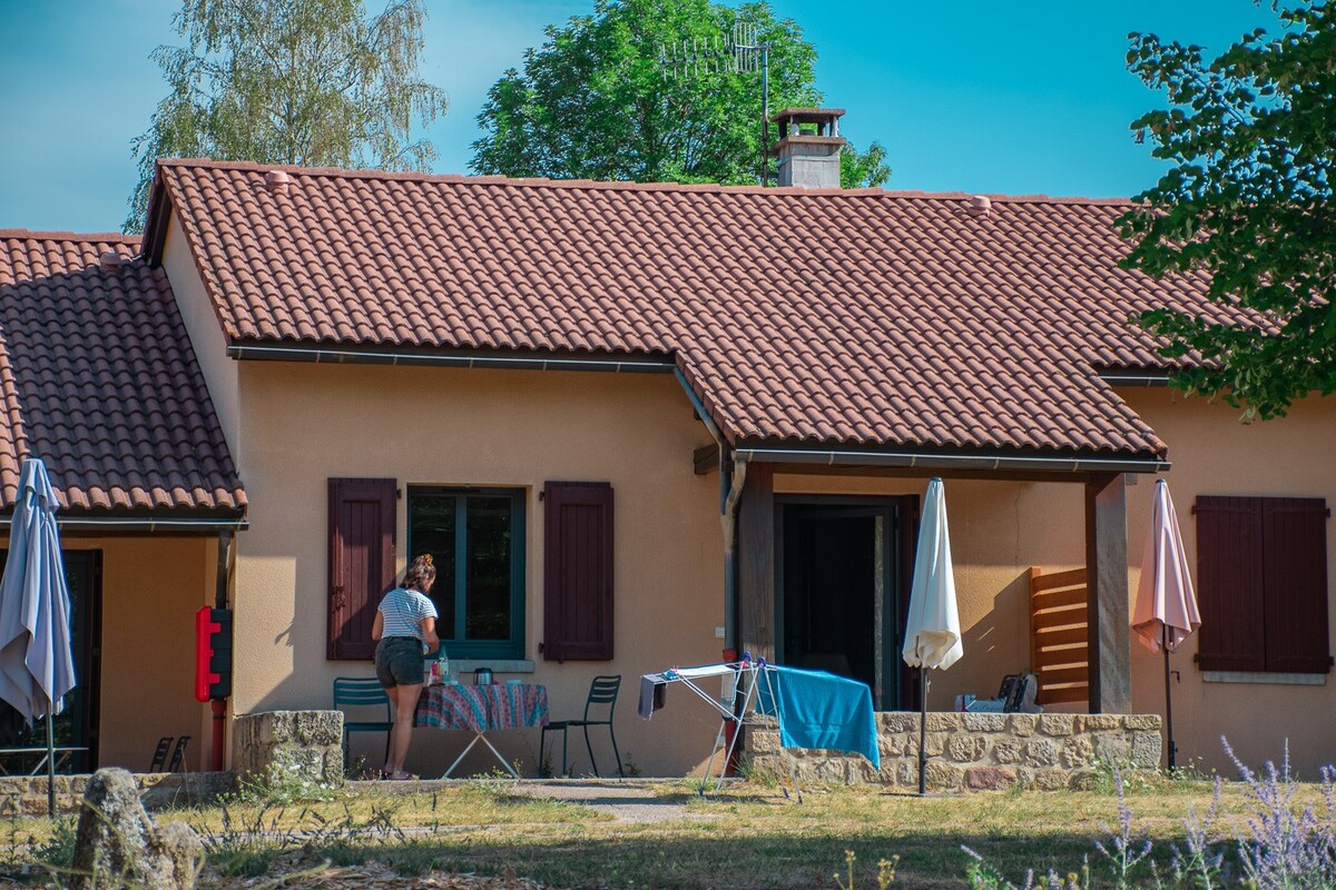
[[[52,718],[75,686],[69,651],[69,588],[60,558],[56,492],[41,460],[28,458],[9,526],[9,559],[0,578],[0,698],[28,718],[47,718],[47,803],[56,811]]]

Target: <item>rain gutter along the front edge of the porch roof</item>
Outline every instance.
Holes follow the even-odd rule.
[[[894,451],[844,451],[820,448],[733,448],[735,459],[770,463],[802,463],[858,467],[906,467],[962,471],[1022,472],[1164,472],[1160,458],[1029,458],[1006,455],[950,455]]]

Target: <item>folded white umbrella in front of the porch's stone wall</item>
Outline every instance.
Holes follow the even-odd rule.
[[[910,615],[904,626],[904,663],[919,669],[919,794],[927,791],[927,673],[946,670],[965,654],[961,616],[955,608],[955,576],[951,574],[951,538],[946,527],[946,492],[941,479],[927,483]]]

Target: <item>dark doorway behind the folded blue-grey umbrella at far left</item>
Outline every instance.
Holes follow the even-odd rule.
[[[9,551],[0,550],[0,572],[8,560]],[[69,587],[69,632],[71,648],[75,656],[75,689],[65,697],[65,707],[56,717],[55,735],[57,746],[87,747],[88,751],[73,753],[57,762],[60,773],[92,773],[98,765],[98,687],[99,660],[102,655],[102,551],[65,550],[61,552],[65,563],[65,583]],[[0,702],[0,711],[9,711]],[[8,714],[0,715],[0,723]],[[21,718],[19,718],[21,722]],[[15,726],[5,737],[3,747],[43,747],[47,743],[45,719],[32,727]],[[17,755],[15,755],[17,757]],[[40,759],[40,758],[39,758]],[[36,761],[33,761],[35,763]],[[9,773],[27,773],[28,763],[7,763]]]

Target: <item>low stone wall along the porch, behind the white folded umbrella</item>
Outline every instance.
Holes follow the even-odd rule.
[[[1096,765],[1158,769],[1158,714],[929,714],[927,786],[934,791],[1001,790],[1013,785],[1057,790],[1086,787]],[[880,773],[859,755],[787,751],[799,782],[887,785],[918,789],[919,715],[876,715]],[[783,775],[779,730],[751,727],[752,769]]]

